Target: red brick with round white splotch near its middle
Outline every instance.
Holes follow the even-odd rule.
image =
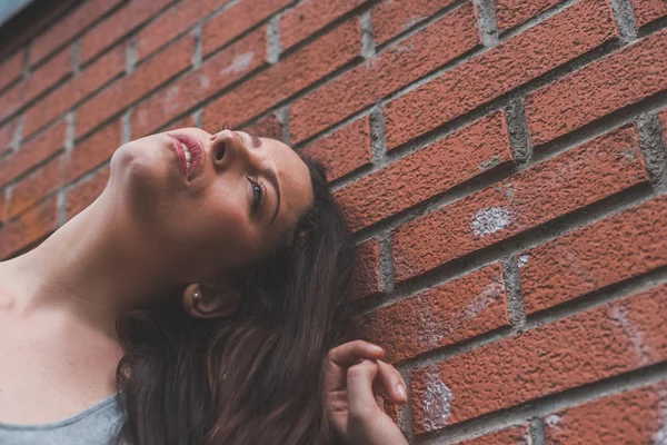
[[[636,128],[614,130],[396,229],[396,280],[647,181]]]

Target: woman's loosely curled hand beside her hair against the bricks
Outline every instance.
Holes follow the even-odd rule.
[[[390,403],[407,402],[406,385],[394,366],[381,362],[379,346],[355,340],[329,352],[325,366],[327,416],[348,445],[407,445],[385,414],[381,394]]]

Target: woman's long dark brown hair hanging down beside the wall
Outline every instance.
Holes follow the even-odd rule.
[[[125,315],[119,439],[145,444],[329,443],[322,364],[341,339],[356,254],[323,168],[289,239],[236,279],[225,319],[185,314],[182,289]]]

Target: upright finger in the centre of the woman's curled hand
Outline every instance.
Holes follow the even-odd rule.
[[[378,375],[378,364],[364,359],[350,366],[347,372],[348,412],[356,418],[367,418],[378,409],[372,393],[372,380]]]

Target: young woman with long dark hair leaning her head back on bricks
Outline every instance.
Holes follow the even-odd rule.
[[[120,147],[103,192],[0,263],[0,443],[405,444],[322,169],[242,131]],[[340,346],[337,346],[340,345]],[[100,402],[101,400],[101,402]]]

